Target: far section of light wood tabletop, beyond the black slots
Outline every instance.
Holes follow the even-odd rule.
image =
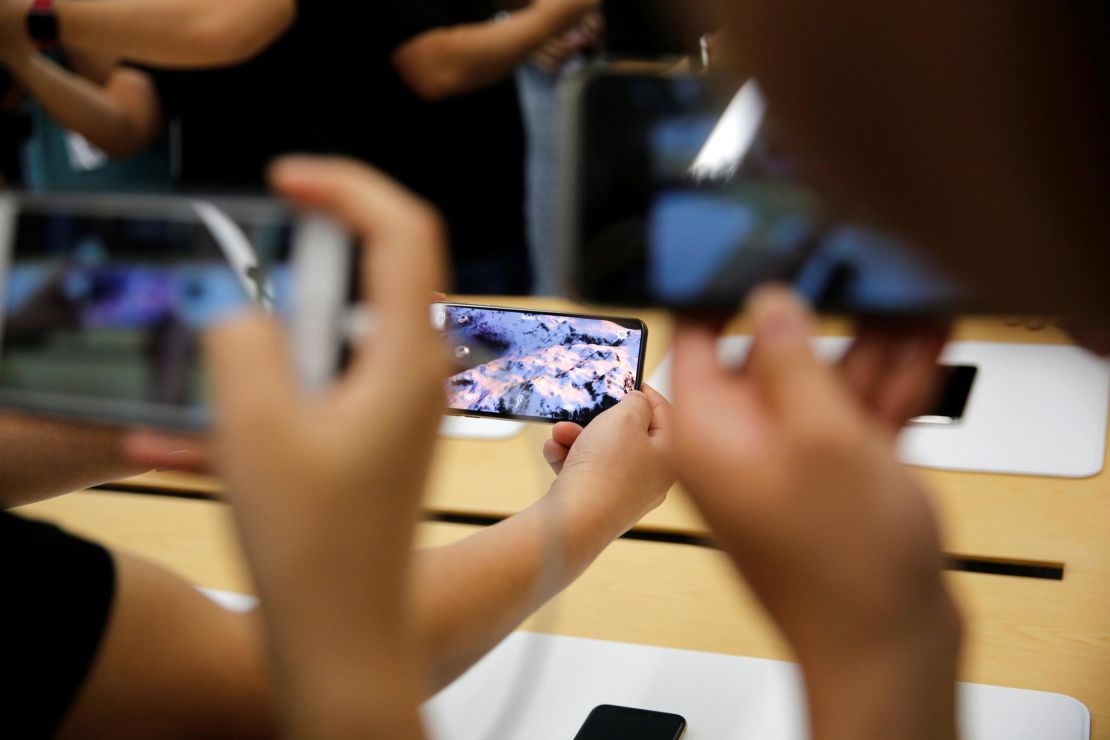
[[[670,348],[673,325],[659,311],[591,307],[556,298],[466,296],[470,303],[545,311],[638,316],[648,326],[644,377],[650,377]],[[743,324],[731,327],[743,332]],[[842,322],[826,322],[823,333],[846,334]],[[1030,331],[1000,320],[972,320],[957,325],[957,339],[1063,344],[1056,327]],[[546,491],[552,475],[541,457],[548,435],[545,425],[527,425],[504,440],[443,439],[427,507],[437,514],[501,518],[519,511]],[[921,470],[941,513],[949,553],[1012,561],[1064,564],[1087,568],[1092,558],[1110,567],[1110,544],[1102,546],[1102,526],[1110,524],[1110,474],[1082,480],[1013,475]],[[154,473],[118,484],[145,490],[219,495],[220,481],[203,476]],[[689,499],[676,487],[666,503],[637,529],[705,535],[707,528]],[[1082,536],[1077,536],[1082,535]],[[1110,570],[1106,572],[1110,574]]]

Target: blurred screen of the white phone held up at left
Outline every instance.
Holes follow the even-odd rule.
[[[290,231],[239,224],[230,255],[200,219],[24,212],[4,284],[0,386],[199,405],[199,333],[269,296],[292,300]],[[235,268],[230,265],[234,264]]]

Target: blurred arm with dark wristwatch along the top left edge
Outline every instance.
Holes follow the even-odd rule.
[[[28,0],[0,0],[0,42],[26,37]],[[61,44],[163,67],[253,57],[293,21],[294,0],[57,0]]]

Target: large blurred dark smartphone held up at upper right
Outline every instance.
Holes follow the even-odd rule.
[[[565,94],[562,240],[575,297],[734,312],[776,281],[831,313],[969,307],[966,287],[909,245],[829,212],[776,148],[755,81],[595,71]]]

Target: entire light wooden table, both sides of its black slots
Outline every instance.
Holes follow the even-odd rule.
[[[474,302],[589,311],[552,300]],[[647,322],[645,377],[649,377],[669,347],[669,318],[658,312],[598,313],[637,315]],[[829,323],[825,330],[842,334],[847,327]],[[1067,342],[1053,328],[1030,332],[985,320],[961,323],[956,338]],[[551,483],[539,456],[546,435],[546,427],[529,425],[521,436],[503,442],[443,440],[430,513],[493,520],[521,510]],[[1091,709],[1094,737],[1110,740],[1104,729],[1110,721],[1110,474],[1074,480],[920,470],[920,477],[940,513],[948,553],[979,562],[1047,565],[1063,575],[1061,580],[971,572],[949,576],[969,616],[965,677],[1070,693]],[[121,485],[203,495],[220,490],[215,480],[174,474],[142,476]],[[41,505],[36,513],[72,519],[110,541],[165,562],[195,582],[246,588],[229,545],[225,514],[218,504],[83,494]],[[682,536],[706,531],[679,489],[637,529]],[[427,525],[423,534],[434,543],[467,531],[437,524]],[[750,598],[738,596],[720,556],[703,547],[619,541],[557,600],[555,609],[554,617],[548,614],[546,621],[541,617],[533,626],[603,639],[787,657]]]

